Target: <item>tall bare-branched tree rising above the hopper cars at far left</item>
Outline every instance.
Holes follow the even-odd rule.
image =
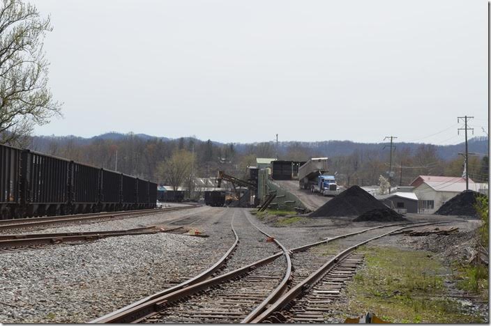
[[[20,0],[0,0],[0,143],[15,143],[48,123],[61,104],[47,87],[43,39],[50,18]]]

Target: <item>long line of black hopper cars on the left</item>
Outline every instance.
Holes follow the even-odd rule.
[[[157,184],[0,145],[0,219],[155,208]]]

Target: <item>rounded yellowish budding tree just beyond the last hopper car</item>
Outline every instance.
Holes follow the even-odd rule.
[[[157,168],[157,178],[161,182],[167,182],[174,189],[174,192],[190,178],[192,164],[195,162],[195,155],[188,150],[176,150],[171,157],[164,162],[160,162]]]

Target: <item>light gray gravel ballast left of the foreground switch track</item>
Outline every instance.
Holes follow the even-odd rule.
[[[225,213],[200,224],[209,238],[156,233],[3,253],[0,322],[86,323],[195,276],[234,241]]]

